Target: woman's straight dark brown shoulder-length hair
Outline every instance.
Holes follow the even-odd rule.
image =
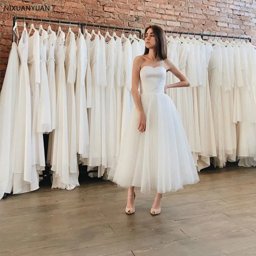
[[[148,26],[145,29],[144,38],[146,37],[146,33],[149,28],[152,28],[153,33],[156,36],[156,56],[158,56],[160,60],[167,59],[167,43],[166,43],[166,37],[165,37],[163,28],[156,25]],[[144,55],[148,54],[148,52],[149,52],[149,49],[145,47]]]

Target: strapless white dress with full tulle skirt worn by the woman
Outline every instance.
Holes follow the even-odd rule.
[[[147,123],[138,130],[134,106],[120,154],[108,172],[108,180],[121,187],[139,187],[142,193],[156,189],[166,193],[199,181],[180,116],[172,99],[164,94],[166,69],[144,66],[140,70],[140,99]]]

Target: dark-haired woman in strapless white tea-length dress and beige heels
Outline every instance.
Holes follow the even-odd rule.
[[[157,215],[161,212],[163,193],[194,184],[199,177],[178,112],[166,95],[167,88],[188,87],[189,81],[167,59],[162,28],[146,28],[145,46],[144,55],[137,56],[133,62],[132,96],[135,106],[121,139],[118,160],[108,179],[118,186],[128,187],[127,214],[135,212],[134,187],[139,187],[142,193],[156,189],[150,212]],[[168,71],[180,82],[165,85]]]

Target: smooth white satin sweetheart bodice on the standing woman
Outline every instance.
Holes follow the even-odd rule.
[[[164,93],[166,69],[163,66],[144,66],[140,69],[140,94]]]

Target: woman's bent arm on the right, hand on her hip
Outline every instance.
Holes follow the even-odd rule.
[[[172,74],[180,80],[180,82],[178,83],[165,85],[165,89],[190,86],[188,78],[180,71],[180,69],[171,60],[166,59],[165,64],[167,66],[167,71],[172,72]]]

